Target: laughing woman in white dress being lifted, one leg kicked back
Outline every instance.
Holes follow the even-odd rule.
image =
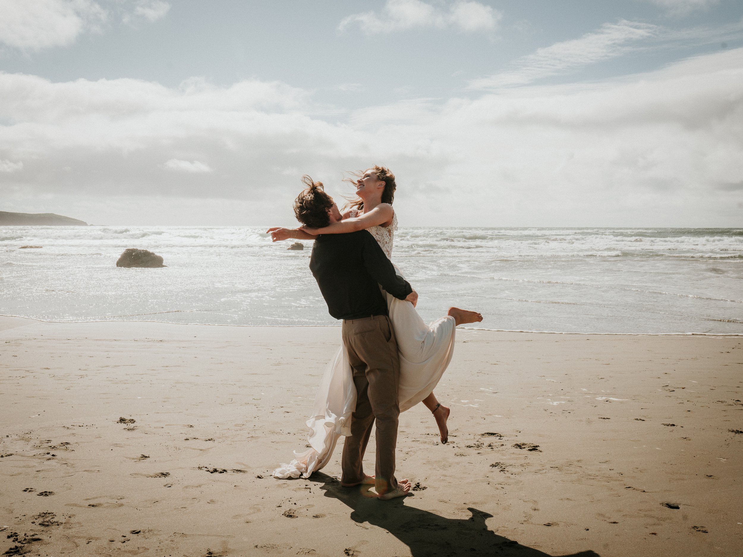
[[[395,175],[383,166],[374,166],[366,172],[359,171],[354,175],[357,176],[355,180],[357,198],[351,201],[343,212],[343,221],[320,229],[272,228],[268,232],[271,233],[273,241],[288,238],[314,239],[319,234],[345,234],[366,229],[374,236],[387,257],[392,258],[392,244],[398,225],[397,216],[392,209],[397,187]],[[312,187],[308,177],[305,177],[304,181]],[[353,180],[346,181],[354,183]],[[397,270],[402,276],[400,270]],[[441,434],[441,443],[447,443],[449,434],[447,419],[450,408],[438,402],[433,394],[433,388],[451,361],[455,327],[480,322],[482,316],[473,311],[450,307],[447,316],[426,325],[413,304],[398,300],[388,293],[385,295],[389,319],[395,328],[400,351],[398,385],[400,411],[423,402],[435,417]],[[320,385],[315,400],[315,417],[308,420],[308,426],[313,431],[310,435],[312,449],[301,455],[295,453],[296,460],[274,471],[276,477],[296,478],[302,475],[307,478],[327,463],[338,435],[348,434],[345,432],[350,419],[348,409],[352,411],[355,405],[355,391],[349,392],[349,373],[350,366],[345,358],[345,350],[341,347],[328,366]],[[351,382],[350,387],[352,386]],[[333,406],[328,404],[328,400],[335,400],[334,411],[328,409]]]

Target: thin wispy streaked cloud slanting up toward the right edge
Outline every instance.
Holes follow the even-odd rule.
[[[649,48],[698,46],[738,39],[743,36],[743,20],[717,27],[669,29],[659,25],[620,20],[605,23],[598,30],[579,39],[556,42],[522,56],[511,64],[513,69],[480,79],[473,79],[467,88],[498,89],[526,85],[538,79],[570,74],[587,65],[602,62],[626,53]]]

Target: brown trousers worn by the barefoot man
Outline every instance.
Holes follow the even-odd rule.
[[[376,490],[380,495],[398,486],[395,446],[398,443],[398,341],[387,316],[343,321],[343,344],[354,370],[356,411],[351,436],[343,445],[343,483],[364,478],[363,457],[371,426],[377,421]]]

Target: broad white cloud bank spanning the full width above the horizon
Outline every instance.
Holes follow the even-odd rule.
[[[74,216],[93,222],[291,224],[302,174],[337,195],[349,193],[341,171],[381,163],[398,177],[404,225],[742,222],[743,190],[731,184],[743,181],[743,48],[601,83],[369,107],[338,122],[317,111],[307,91],[279,82],[167,88],[0,73],[0,122],[10,122],[0,160],[23,163],[0,175],[3,203],[60,212],[43,200],[77,200],[85,212]],[[218,172],[163,172],[163,161]],[[123,199],[159,199],[159,210],[144,222]]]

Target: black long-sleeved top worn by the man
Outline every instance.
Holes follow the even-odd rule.
[[[310,270],[335,319],[387,315],[387,302],[377,284],[400,300],[412,292],[366,230],[317,236]]]

